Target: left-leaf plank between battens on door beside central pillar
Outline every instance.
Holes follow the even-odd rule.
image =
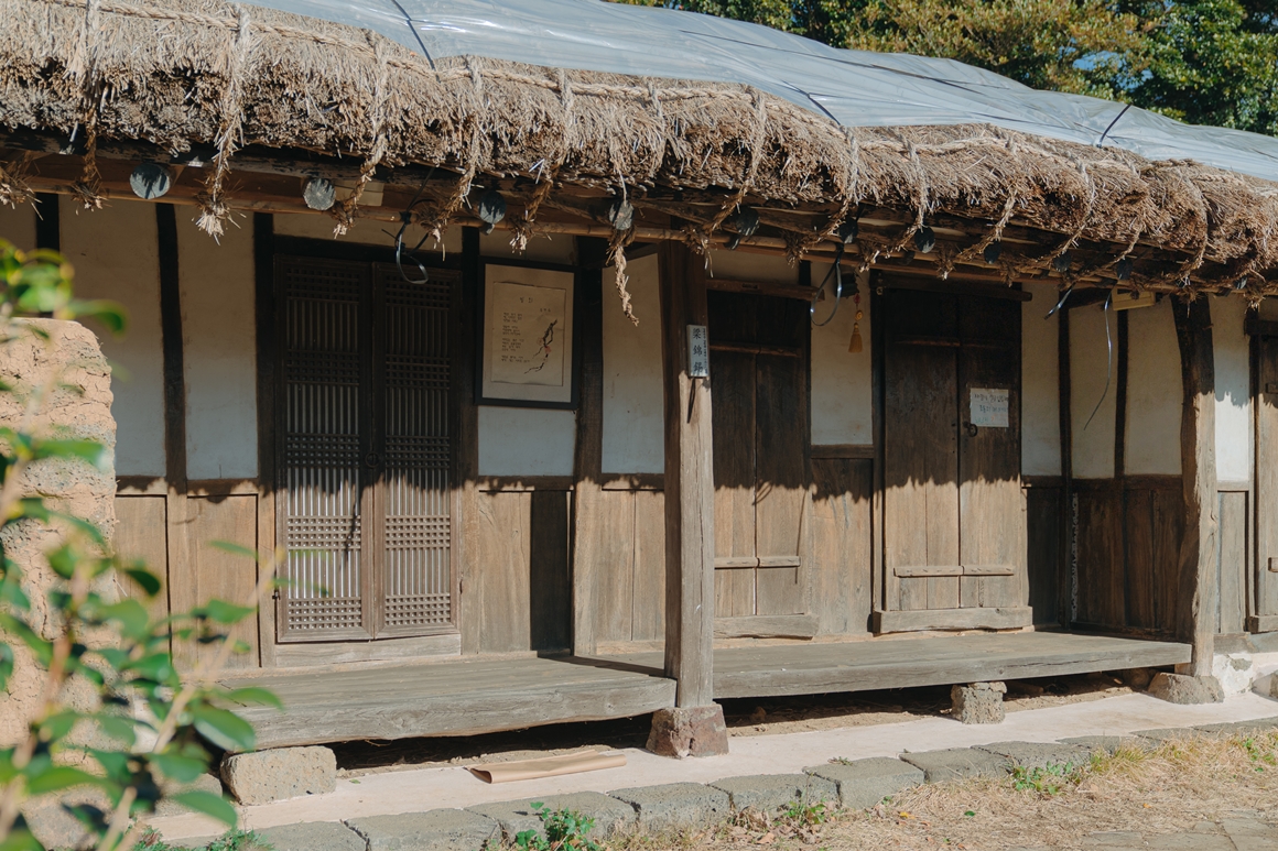
[[[754,355],[712,349],[711,382],[714,557],[754,558]]]

